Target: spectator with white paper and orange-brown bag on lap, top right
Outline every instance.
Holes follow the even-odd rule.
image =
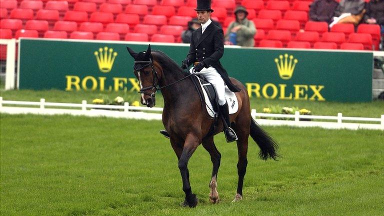
[[[333,22],[329,24],[332,27],[335,23],[353,23],[357,25],[365,13],[364,0],[341,0],[334,11]]]

